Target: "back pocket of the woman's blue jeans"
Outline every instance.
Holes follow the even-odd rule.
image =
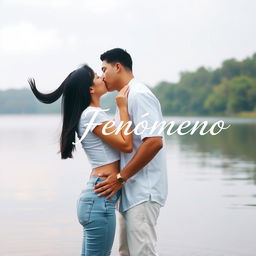
[[[80,198],[77,205],[77,217],[81,225],[86,225],[90,221],[94,199]]]

